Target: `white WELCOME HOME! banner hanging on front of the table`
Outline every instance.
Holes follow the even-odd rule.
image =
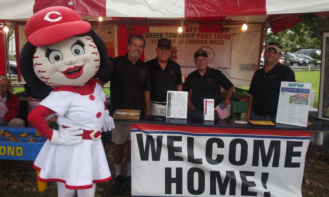
[[[311,133],[132,124],[132,196],[302,197]]]

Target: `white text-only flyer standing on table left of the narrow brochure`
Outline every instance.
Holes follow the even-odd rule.
[[[167,91],[166,118],[187,119],[188,92]]]

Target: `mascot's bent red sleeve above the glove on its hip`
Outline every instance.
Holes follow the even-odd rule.
[[[52,114],[53,111],[48,107],[38,105],[28,115],[27,120],[46,138],[51,140],[53,130],[48,126],[45,117]]]

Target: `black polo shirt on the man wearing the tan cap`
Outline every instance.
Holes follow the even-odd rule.
[[[295,73],[290,67],[277,63],[265,73],[265,67],[252,77],[249,93],[253,95],[252,111],[261,115],[276,114],[281,81],[295,82]]]

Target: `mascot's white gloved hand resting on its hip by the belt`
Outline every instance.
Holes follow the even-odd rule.
[[[51,137],[50,144],[62,144],[62,145],[75,145],[81,143],[83,130],[79,126],[73,126],[68,128],[63,128],[62,125],[59,126],[58,131],[53,130],[53,136]]]

